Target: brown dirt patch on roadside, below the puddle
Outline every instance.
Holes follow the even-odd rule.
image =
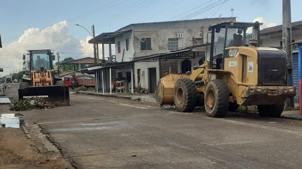
[[[73,168],[41,134],[38,126],[26,128],[32,139],[26,137],[22,128],[0,128],[1,168]]]

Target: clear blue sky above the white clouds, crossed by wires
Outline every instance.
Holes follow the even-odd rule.
[[[103,11],[99,11],[95,14],[83,17],[75,21],[71,21],[69,23],[70,35],[79,38],[80,35],[82,35],[82,33],[84,32],[81,28],[74,26],[74,24],[80,24],[89,29],[92,24],[96,25],[102,20],[111,17],[115,12],[123,10],[125,7],[134,4],[138,0],[127,0],[125,2],[123,1],[124,0],[120,0],[116,3],[111,4],[118,4],[111,8],[104,9]],[[111,24],[110,27],[108,24],[107,26],[103,26],[102,24],[96,25],[95,28],[98,29],[96,33],[99,34],[101,32],[114,31],[130,23],[138,23],[179,1],[180,0],[159,0],[152,5],[149,5],[149,7],[144,8],[143,10],[120,20],[117,23]],[[114,2],[114,0],[53,0],[51,2],[41,0],[1,0],[0,12],[2,19],[0,21],[0,33],[2,35],[2,39],[14,37],[23,34],[24,30],[28,28],[34,27],[41,29],[47,26],[51,26],[54,23],[79,16],[96,8],[109,4],[110,2]],[[140,1],[137,4],[141,2],[143,1]],[[177,14],[194,8],[195,6],[201,5],[204,2],[208,2],[208,0],[184,0],[173,6],[172,8],[169,8],[166,11],[161,12],[160,14],[144,20],[143,22],[168,20],[176,16]],[[106,7],[109,7],[111,5],[108,5]],[[293,22],[302,19],[298,13],[300,5],[302,5],[301,1],[291,0]],[[253,19],[257,17],[262,17],[267,22],[277,23],[277,25],[281,24],[280,18],[282,12],[282,0],[230,0],[225,2],[216,14],[214,14],[214,12],[219,7],[213,8],[190,19],[211,17],[213,14],[213,17],[219,17],[220,14],[221,17],[230,17],[230,8],[232,7],[235,9],[234,16],[238,17],[237,21],[253,21]],[[114,22],[114,20],[111,20],[111,22]],[[82,39],[84,40],[85,38]],[[4,45],[11,42],[13,42],[13,40],[4,42]]]

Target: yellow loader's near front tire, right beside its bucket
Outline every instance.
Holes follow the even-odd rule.
[[[197,103],[197,92],[194,81],[181,78],[174,88],[174,105],[178,112],[192,112]]]

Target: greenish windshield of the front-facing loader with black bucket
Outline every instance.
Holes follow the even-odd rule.
[[[41,66],[43,66],[45,70],[50,70],[50,55],[50,52],[47,50],[31,51],[31,70],[39,71]]]

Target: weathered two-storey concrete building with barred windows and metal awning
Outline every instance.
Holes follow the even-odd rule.
[[[198,47],[210,43],[208,27],[223,21],[236,21],[236,18],[135,23],[115,32],[101,33],[95,43],[114,44],[116,62],[133,63],[122,69],[112,67],[115,77],[130,79],[133,88],[141,80],[141,88],[153,93],[165,71],[185,73],[191,71],[191,66],[204,62],[206,48]],[[88,43],[93,43],[93,39]]]

